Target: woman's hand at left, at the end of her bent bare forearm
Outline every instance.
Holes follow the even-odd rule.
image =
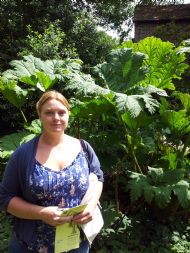
[[[73,216],[61,216],[62,211],[57,206],[43,207],[40,210],[40,217],[44,223],[51,226],[57,226],[66,222],[71,222]]]

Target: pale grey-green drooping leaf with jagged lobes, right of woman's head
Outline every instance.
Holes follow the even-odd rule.
[[[159,102],[154,99],[151,94],[156,93],[166,96],[166,93],[160,89],[141,89],[140,95],[126,95],[124,93],[116,93],[110,89],[97,85],[90,75],[82,73],[71,73],[67,76],[67,84],[65,89],[75,91],[75,94],[81,100],[86,96],[96,96],[96,99],[102,99],[102,96],[112,96],[110,101],[115,103],[116,109],[121,112],[129,112],[132,117],[137,117],[143,110],[154,113],[159,107]],[[144,94],[142,94],[144,93]],[[100,108],[97,108],[99,110]]]

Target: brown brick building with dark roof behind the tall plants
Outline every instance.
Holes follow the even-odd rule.
[[[175,42],[177,37],[190,38],[190,4],[166,6],[136,6],[134,13],[135,41],[145,37],[155,36],[160,26],[171,24],[170,30],[164,29],[161,39]],[[174,34],[172,34],[172,23]],[[175,34],[176,33],[176,34]],[[186,36],[186,37],[185,37]],[[188,37],[189,36],[189,37]],[[158,37],[158,36],[156,36]]]

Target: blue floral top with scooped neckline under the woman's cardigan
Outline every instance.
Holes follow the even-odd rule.
[[[71,165],[60,171],[44,167],[36,161],[30,176],[30,189],[41,206],[71,208],[79,205],[89,186],[89,168],[85,154],[81,150]],[[37,222],[37,240],[28,246],[35,252],[46,252],[53,246],[55,228]]]

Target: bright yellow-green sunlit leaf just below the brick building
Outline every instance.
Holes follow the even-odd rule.
[[[188,68],[185,63],[185,54],[179,54],[169,41],[163,42],[159,38],[147,37],[138,43],[125,42],[121,47],[133,48],[135,52],[141,52],[147,57],[144,64],[149,68],[143,85],[152,84],[162,89],[175,89],[173,79],[180,79]]]

